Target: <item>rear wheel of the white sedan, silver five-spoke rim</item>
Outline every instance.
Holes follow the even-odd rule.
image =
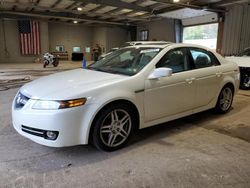
[[[219,94],[219,97],[215,106],[215,112],[220,113],[220,114],[227,113],[232,106],[233,96],[234,96],[233,86],[225,85]]]

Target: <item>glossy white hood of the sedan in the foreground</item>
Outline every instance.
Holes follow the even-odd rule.
[[[75,69],[34,80],[21,88],[33,99],[67,100],[104,85],[125,79],[127,76],[86,69]]]

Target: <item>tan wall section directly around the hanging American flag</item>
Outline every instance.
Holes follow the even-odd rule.
[[[0,63],[34,62],[38,56],[22,56],[20,53],[19,32],[16,20],[0,20]],[[3,23],[4,22],[4,23]],[[6,36],[6,52],[4,49],[4,31]],[[41,51],[48,51],[48,23],[41,22]]]

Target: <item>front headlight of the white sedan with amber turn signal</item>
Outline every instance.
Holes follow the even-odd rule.
[[[81,106],[81,105],[84,105],[86,101],[87,101],[86,98],[65,100],[65,101],[38,100],[35,102],[32,108],[37,109],[37,110],[57,110],[57,109]]]

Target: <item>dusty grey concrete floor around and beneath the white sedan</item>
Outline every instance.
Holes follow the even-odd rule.
[[[60,66],[56,71],[72,64]],[[30,69],[9,68],[0,65],[0,83]],[[31,79],[54,72],[32,70]],[[240,91],[226,115],[207,111],[144,129],[126,148],[106,153],[91,146],[48,148],[18,135],[10,112],[18,87],[0,91],[1,188],[250,187],[250,91]]]

